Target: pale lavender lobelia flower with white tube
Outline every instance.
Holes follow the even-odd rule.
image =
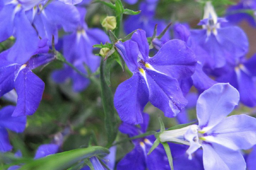
[[[238,101],[239,92],[231,85],[213,85],[198,98],[198,125],[165,131],[160,134],[160,141],[190,145],[189,159],[202,147],[205,170],[245,169],[239,149],[256,144],[256,119],[245,114],[226,117]]]

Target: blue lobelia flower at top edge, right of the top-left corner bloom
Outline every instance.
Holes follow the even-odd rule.
[[[46,3],[47,1],[43,1],[34,6],[26,12],[26,15],[36,28],[38,35],[48,40],[48,45],[52,44],[53,35],[54,43],[57,44],[58,28],[62,27],[65,32],[76,30],[80,19],[79,12],[74,5],[67,5],[58,0],[53,0],[47,5]]]

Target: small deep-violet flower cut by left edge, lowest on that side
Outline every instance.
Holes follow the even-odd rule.
[[[0,152],[6,152],[12,149],[6,129],[17,133],[25,130],[26,116],[12,117],[14,110],[15,106],[6,106],[0,110]]]

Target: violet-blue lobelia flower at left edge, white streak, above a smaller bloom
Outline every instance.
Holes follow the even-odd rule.
[[[38,52],[43,52],[42,49]],[[0,55],[0,97],[15,88],[18,97],[12,116],[32,115],[42,99],[44,82],[31,70],[54,60],[54,56],[38,54],[19,64],[7,61],[7,54],[3,52]]]

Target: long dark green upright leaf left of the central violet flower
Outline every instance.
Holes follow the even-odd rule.
[[[100,65],[100,80],[101,80],[101,97],[105,114],[105,128],[107,132],[108,142],[107,147],[110,147],[117,136],[117,119],[115,117],[116,109],[114,108],[113,96],[110,87],[105,79],[106,62],[101,60]]]

